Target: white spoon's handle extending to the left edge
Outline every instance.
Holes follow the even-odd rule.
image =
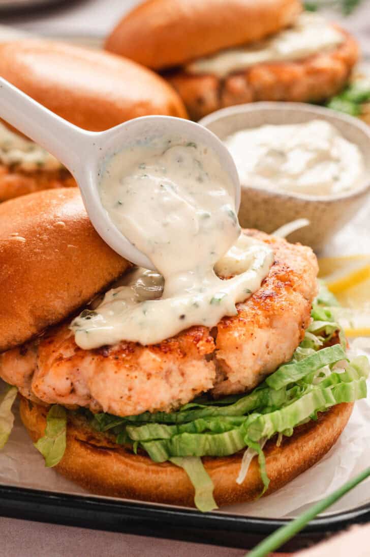
[[[77,128],[0,77],[0,118],[52,153],[72,174],[84,139],[92,132]]]

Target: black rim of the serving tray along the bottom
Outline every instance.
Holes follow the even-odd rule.
[[[0,515],[244,549],[288,522],[6,485],[0,485]],[[370,505],[325,515],[310,522],[281,550],[302,549],[350,524],[368,521]]]

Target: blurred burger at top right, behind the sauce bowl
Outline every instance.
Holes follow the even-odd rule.
[[[245,102],[325,101],[358,59],[354,38],[299,0],[147,0],[105,47],[161,72],[194,120]]]

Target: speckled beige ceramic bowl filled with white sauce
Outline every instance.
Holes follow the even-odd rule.
[[[320,250],[370,193],[370,128],[358,119],[297,102],[256,102],[200,121],[224,141],[241,183],[239,222]]]

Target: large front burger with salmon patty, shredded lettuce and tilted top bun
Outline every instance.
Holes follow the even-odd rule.
[[[76,188],[0,206],[0,375],[12,385],[0,410],[11,412],[18,391],[46,466],[94,494],[202,511],[251,501],[322,458],[366,396],[368,361],[349,360],[312,250],[255,230],[239,236],[222,211],[238,239],[217,280],[235,285],[245,265],[260,280],[226,313],[226,290],[194,295],[204,319],[191,324],[190,306],[189,315],[171,306],[167,319],[167,278],[163,291],[155,271],[108,248]],[[147,226],[160,217],[149,211]],[[199,213],[199,229],[211,218]],[[165,325],[176,333],[161,338]]]

